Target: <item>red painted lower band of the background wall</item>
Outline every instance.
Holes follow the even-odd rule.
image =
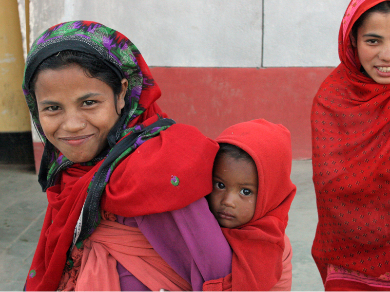
[[[236,123],[263,118],[291,131],[292,158],[312,157],[312,100],[333,68],[151,68],[157,101],[177,123],[210,138]],[[43,146],[34,143],[39,169]]]

